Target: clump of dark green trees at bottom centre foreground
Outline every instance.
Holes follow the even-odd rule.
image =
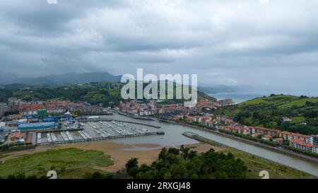
[[[151,165],[138,165],[137,158],[126,163],[129,176],[140,179],[186,179],[186,178],[245,178],[247,167],[232,153],[225,155],[211,148],[198,154],[182,146],[163,148],[158,160]]]

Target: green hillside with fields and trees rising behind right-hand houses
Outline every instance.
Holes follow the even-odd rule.
[[[271,95],[223,107],[213,113],[228,115],[241,124],[318,134],[318,98]],[[283,122],[283,117],[289,117],[292,121]]]

